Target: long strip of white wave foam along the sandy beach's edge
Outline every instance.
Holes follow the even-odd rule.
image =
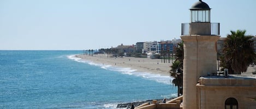
[[[108,70],[113,70],[116,72],[120,72],[122,74],[128,74],[128,75],[134,75],[134,76],[139,76],[141,78],[149,79],[149,80],[154,80],[163,84],[170,84],[170,81],[172,81],[172,78],[170,76],[163,76],[160,74],[154,74],[150,72],[137,72],[136,69],[132,68],[121,68],[121,67],[114,67],[110,65],[105,65],[105,64],[99,64],[99,63],[94,63],[92,61],[87,61],[84,59],[81,59],[79,57],[76,57],[75,55],[69,55],[67,56],[69,59],[77,61],[77,62],[82,62],[82,63],[88,63],[93,66],[99,66],[100,68],[103,69],[108,69]]]

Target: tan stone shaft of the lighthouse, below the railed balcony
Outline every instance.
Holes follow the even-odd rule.
[[[217,45],[220,36],[181,36],[184,42],[183,108],[198,108],[197,82],[200,76],[217,72]]]

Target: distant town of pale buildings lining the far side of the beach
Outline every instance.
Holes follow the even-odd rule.
[[[226,37],[221,37],[217,41],[217,51],[221,53],[224,40]],[[254,52],[256,52],[256,36],[252,38],[254,42]],[[150,57],[151,59],[159,59],[160,57],[172,57],[175,53],[178,43],[181,43],[181,39],[173,40],[161,40],[161,41],[147,41],[147,42],[136,42],[132,45],[120,44],[117,47],[111,48],[100,48],[100,49],[87,49],[84,50],[84,54],[108,54],[109,57]]]

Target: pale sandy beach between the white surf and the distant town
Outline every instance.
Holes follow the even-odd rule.
[[[108,55],[105,54],[98,54],[93,56],[76,55],[76,57],[92,61],[94,63],[136,69],[138,72],[170,76],[169,70],[171,69],[171,60],[170,63],[163,63],[161,59],[150,59],[142,57],[108,57]]]

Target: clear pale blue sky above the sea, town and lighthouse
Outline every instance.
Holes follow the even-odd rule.
[[[203,0],[204,1],[204,0]],[[0,50],[82,50],[180,39],[197,0],[0,0]],[[256,1],[205,0],[211,22],[256,35]]]

